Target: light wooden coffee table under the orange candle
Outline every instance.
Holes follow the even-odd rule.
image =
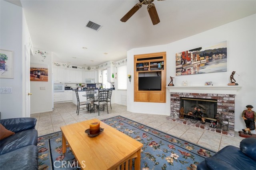
[[[96,121],[100,120],[91,119],[60,127],[62,152],[65,153],[66,148],[70,147],[82,170],[119,169],[125,162],[125,169],[128,170],[131,169],[132,158],[135,159],[135,170],[140,170],[140,149],[143,144],[102,121],[100,127],[104,131],[89,137],[84,131]]]

